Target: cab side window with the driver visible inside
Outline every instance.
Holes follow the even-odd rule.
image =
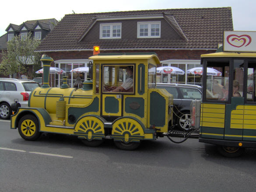
[[[133,65],[112,65],[103,67],[103,92],[133,93]]]

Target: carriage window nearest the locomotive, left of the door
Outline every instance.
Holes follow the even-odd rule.
[[[229,61],[207,61],[206,100],[228,101]]]

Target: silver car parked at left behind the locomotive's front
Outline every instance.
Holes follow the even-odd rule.
[[[0,78],[0,118],[10,118],[14,101],[20,103],[21,107],[27,107],[29,94],[36,87],[39,84],[33,80]]]

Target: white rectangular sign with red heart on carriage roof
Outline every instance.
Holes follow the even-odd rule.
[[[224,52],[256,52],[256,31],[224,31]]]

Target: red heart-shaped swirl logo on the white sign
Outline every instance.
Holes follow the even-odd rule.
[[[234,47],[246,47],[252,42],[252,38],[249,35],[228,35],[227,42]]]

